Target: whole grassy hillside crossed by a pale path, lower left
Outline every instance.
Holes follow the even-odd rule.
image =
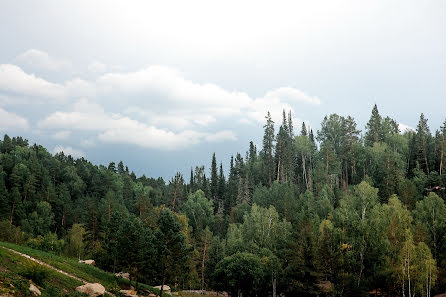
[[[28,255],[42,263],[36,263],[8,249]],[[51,267],[46,267],[47,265]],[[75,289],[86,282],[100,283],[107,291],[118,296],[120,290],[130,288],[128,280],[115,277],[97,267],[81,264],[76,259],[0,242],[0,296],[30,296],[30,281],[40,289],[42,296],[51,297],[84,296]],[[151,286],[145,284],[138,286],[142,294],[159,293]],[[140,296],[144,296],[142,294]],[[106,293],[104,296],[111,295]]]

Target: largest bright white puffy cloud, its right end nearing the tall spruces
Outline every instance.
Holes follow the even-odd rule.
[[[126,113],[138,114],[153,124],[167,122],[169,127],[207,126],[217,119],[231,116],[245,117],[245,122],[263,122],[267,111],[274,118],[280,118],[283,109],[293,111],[296,104],[321,104],[318,97],[292,87],[278,88],[252,98],[245,92],[187,80],[179,71],[164,66],[150,66],[129,73],[107,73],[100,76],[96,84],[97,92],[107,98],[115,97],[119,101],[125,97],[133,104]],[[169,112],[166,114],[167,105]]]

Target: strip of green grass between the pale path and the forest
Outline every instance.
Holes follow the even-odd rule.
[[[105,272],[97,267],[79,263],[77,259],[57,256],[51,253],[35,250],[26,246],[20,246],[12,243],[0,242],[4,246],[18,252],[27,254],[33,258],[39,259],[62,271],[73,274],[89,283],[100,283],[107,291],[117,293],[121,288],[128,288],[130,282],[123,278],[118,278],[112,273]],[[0,250],[4,250],[0,248]],[[17,255],[18,256],[18,255]],[[18,256],[20,257],[20,256]],[[158,294],[158,290],[145,284],[138,284],[139,289],[148,290]]]

